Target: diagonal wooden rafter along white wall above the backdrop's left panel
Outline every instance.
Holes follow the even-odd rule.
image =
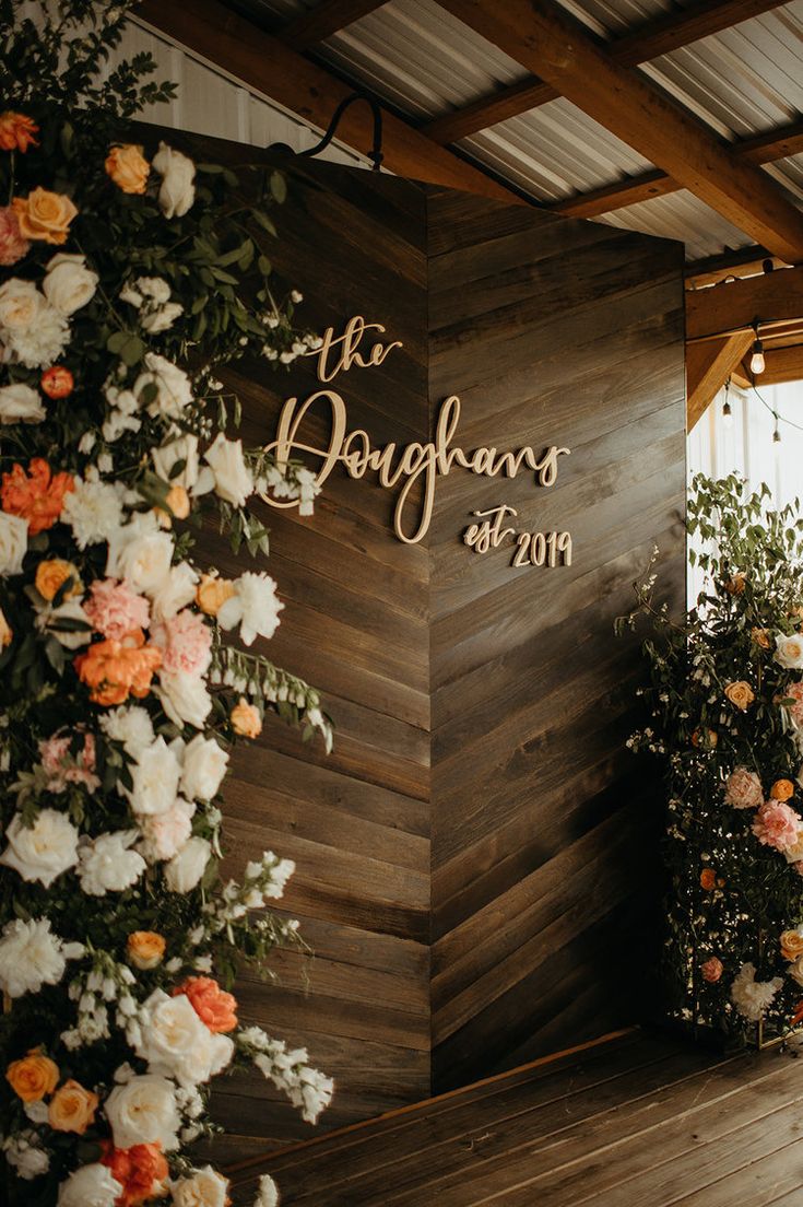
[[[157,34],[166,35],[320,129],[327,128],[340,101],[353,92],[352,86],[231,12],[219,0],[192,4],[140,0],[135,16]],[[398,175],[464,188],[509,204],[527,204],[487,173],[438,146],[387,110],[382,112],[382,129],[385,165]],[[338,138],[358,151],[371,146],[373,117],[367,105],[351,105],[346,110]]]

